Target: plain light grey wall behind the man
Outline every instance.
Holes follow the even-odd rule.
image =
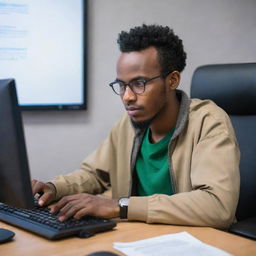
[[[168,25],[188,55],[180,88],[209,63],[256,61],[254,0],[89,0],[88,111],[24,112],[31,176],[48,180],[79,167],[123,112],[115,79],[116,38],[143,22]]]

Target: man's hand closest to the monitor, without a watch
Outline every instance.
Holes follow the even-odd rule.
[[[32,180],[32,192],[33,195],[41,194],[38,200],[40,206],[45,206],[53,202],[56,195],[56,189],[51,183],[44,183],[38,180]]]

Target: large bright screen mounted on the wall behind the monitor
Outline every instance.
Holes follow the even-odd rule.
[[[0,79],[22,109],[86,108],[85,0],[0,0]]]

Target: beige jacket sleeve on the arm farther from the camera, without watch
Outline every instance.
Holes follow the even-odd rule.
[[[114,129],[97,150],[83,160],[79,169],[50,181],[56,188],[56,200],[77,193],[99,194],[110,188],[109,170],[115,158]]]

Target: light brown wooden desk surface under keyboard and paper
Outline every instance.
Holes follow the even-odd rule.
[[[185,227],[139,222],[118,223],[113,231],[98,233],[90,238],[67,238],[49,241],[22,229],[0,222],[1,228],[16,233],[15,239],[0,245],[1,256],[84,256],[90,252],[108,250],[120,254],[113,249],[113,242],[131,242],[154,236],[187,231],[194,237],[209,245],[213,245],[237,256],[256,255],[256,242],[220,230],[206,227]]]

